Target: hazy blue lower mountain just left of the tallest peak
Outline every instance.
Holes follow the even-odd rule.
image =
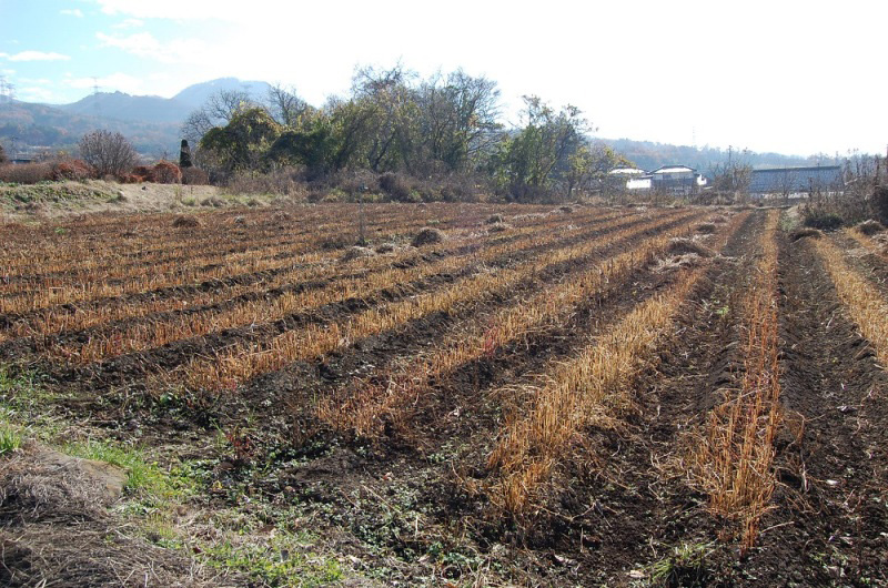
[[[130,95],[123,92],[99,92],[72,104],[59,107],[85,116],[100,116],[119,121],[180,123],[193,110],[190,104],[175,99],[155,95]]]

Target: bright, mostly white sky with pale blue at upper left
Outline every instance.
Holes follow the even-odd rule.
[[[320,105],[357,65],[463,68],[574,104],[603,138],[785,154],[886,152],[884,0],[0,0],[19,100],[172,97],[221,77]]]

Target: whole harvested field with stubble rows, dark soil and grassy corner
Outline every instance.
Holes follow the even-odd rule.
[[[0,585],[888,582],[878,234],[360,215],[2,225]]]

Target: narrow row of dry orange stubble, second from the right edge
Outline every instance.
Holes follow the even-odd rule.
[[[776,484],[774,438],[781,422],[777,332],[777,226],[771,211],[763,255],[743,301],[744,375],[739,389],[710,414],[692,459],[693,475],[710,509],[737,520],[740,551],[758,535]]]

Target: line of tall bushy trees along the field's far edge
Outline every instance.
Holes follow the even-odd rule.
[[[321,108],[282,85],[262,100],[222,91],[192,112],[182,134],[195,165],[218,183],[299,169],[309,182],[346,171],[406,178],[471,178],[516,201],[595,190],[624,161],[589,139],[573,105],[524,97],[519,122],[503,121],[496,82],[463,70],[420,78],[400,65],[359,69],[345,97]]]

